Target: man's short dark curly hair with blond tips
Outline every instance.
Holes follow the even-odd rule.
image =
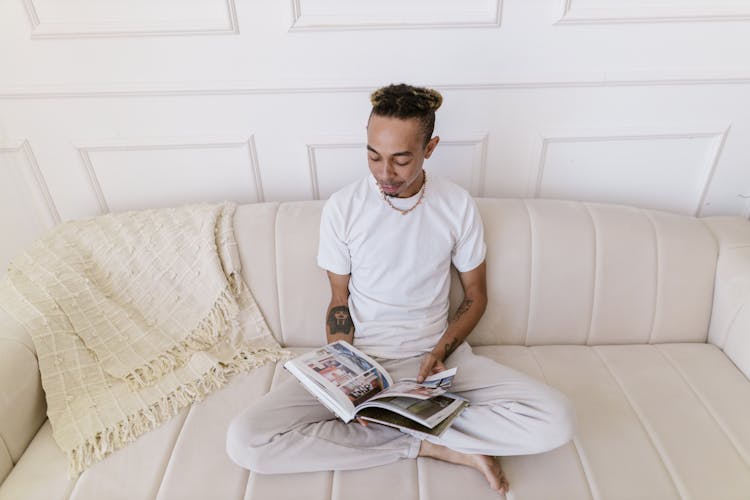
[[[372,103],[370,116],[419,120],[426,146],[432,138],[432,131],[435,129],[435,111],[443,103],[443,96],[437,90],[400,83],[379,88],[370,94],[370,102]]]

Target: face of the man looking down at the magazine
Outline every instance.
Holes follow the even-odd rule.
[[[371,115],[367,125],[367,163],[387,196],[408,198],[422,187],[422,165],[439,137],[424,145],[419,120]]]

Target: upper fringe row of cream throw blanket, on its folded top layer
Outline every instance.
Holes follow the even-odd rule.
[[[135,368],[125,375],[131,391],[137,391],[158,382],[164,375],[190,361],[195,351],[205,351],[213,347],[229,332],[237,328],[237,304],[234,283],[227,285],[216,299],[208,315],[198,323],[193,332],[167,351],[159,354],[145,365]]]

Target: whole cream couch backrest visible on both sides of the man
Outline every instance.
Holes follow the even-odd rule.
[[[706,341],[718,250],[700,220],[574,201],[477,204],[489,305],[473,345]],[[330,292],[316,265],[322,206],[245,205],[236,218],[246,278],[285,345],[325,339]],[[456,277],[452,310],[461,298]]]

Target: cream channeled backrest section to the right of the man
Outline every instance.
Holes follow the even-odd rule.
[[[562,200],[477,204],[489,304],[473,345],[706,341],[718,249],[699,219]]]

